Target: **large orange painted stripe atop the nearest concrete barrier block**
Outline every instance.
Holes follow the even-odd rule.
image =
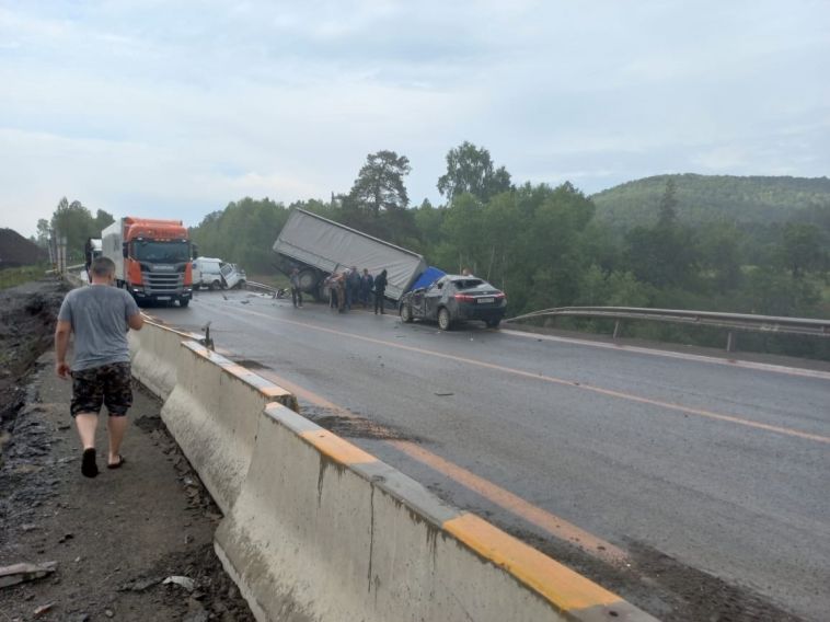
[[[443,523],[443,529],[483,557],[542,595],[561,611],[624,602],[615,594],[553,561],[474,514]]]

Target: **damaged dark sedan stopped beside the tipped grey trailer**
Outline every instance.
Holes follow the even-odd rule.
[[[491,329],[505,316],[507,299],[486,280],[446,275],[429,287],[407,291],[400,301],[401,320],[436,320],[442,331],[465,320],[481,320]]]

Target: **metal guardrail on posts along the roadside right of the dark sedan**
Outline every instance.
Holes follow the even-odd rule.
[[[675,322],[698,326],[727,329],[726,349],[735,348],[734,331],[754,331],[760,333],[786,333],[830,337],[830,320],[807,318],[776,318],[773,315],[752,315],[742,313],[718,313],[714,311],[682,311],[677,309],[638,309],[635,307],[560,307],[524,313],[506,322],[519,322],[534,318],[600,318],[612,319],[613,337],[620,333],[622,320],[648,320],[653,322]]]

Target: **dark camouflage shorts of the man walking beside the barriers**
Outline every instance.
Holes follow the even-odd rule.
[[[132,384],[128,362],[113,362],[72,371],[70,412],[95,413],[106,405],[111,417],[122,417],[132,405]]]

